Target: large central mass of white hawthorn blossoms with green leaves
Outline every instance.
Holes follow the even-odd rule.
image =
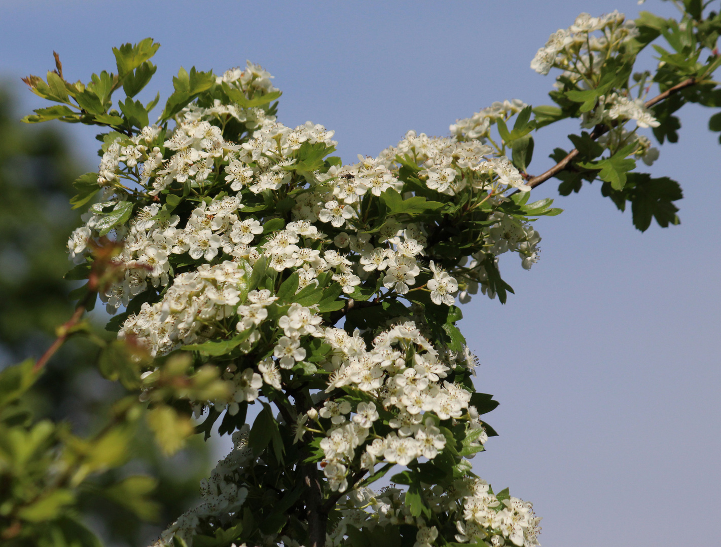
[[[470,447],[482,450],[487,434],[468,383],[475,357],[467,348],[461,351],[462,342],[453,336],[454,350],[451,342],[446,347],[429,341],[434,336],[426,322],[430,315],[418,303],[427,300],[413,298],[412,291],[428,293],[423,298],[433,306],[453,306],[456,295],[468,301],[479,285],[493,295],[484,264],[490,267],[487,261],[495,255],[518,252],[526,268],[536,262],[538,234],[497,210],[508,200],[504,192],[529,187],[511,161],[485,143],[492,123],[507,120],[526,104],[516,99],[494,103],[458,120],[451,126],[454,136],[410,131],[376,158],[358,156],[358,163],[341,165],[337,159],[323,160],[336,145],[333,131],[310,122],[288,128],[275,120],[272,107],[244,106],[274,94],[271,79],[248,63],[216,79],[222,90],[216,97],[225,102],[190,104],[175,117],[172,132],[149,125],[135,136],[108,136],[98,177],[102,203],[92,205],[85,225],[71,235],[71,257],[82,262],[100,234],[122,244],[116,260],[125,275],[101,298],[111,312],[133,306],[138,295],[149,301],[123,321],[119,337],[136,340],[153,356],[205,342],[218,342],[206,348],[231,348],[217,359],[230,398],[191,401],[196,411],[214,405],[236,416],[245,404],[286,390],[298,377],[327,378],[325,390],[312,396],[315,406],[297,417],[296,441],[316,438],[331,491],[347,491],[350,474],[359,466],[373,473],[379,463],[433,460],[451,440],[448,435],[460,435],[463,427],[466,453],[474,452]],[[412,172],[412,184],[438,192],[443,201],[428,204],[410,192],[402,194],[410,184],[401,180],[403,169]],[[424,227],[429,223],[417,217],[459,201],[477,208],[483,228],[473,246],[481,250],[467,251],[470,256],[448,272],[441,267],[445,255],[429,251],[441,248],[433,247],[438,241],[429,243],[437,234],[429,235]],[[412,213],[405,212],[406,205]],[[288,286],[298,295],[294,303]],[[304,300],[320,293],[314,287],[330,286],[345,296],[340,306],[348,309],[375,291],[371,305],[397,306],[395,300],[405,298],[410,310],[387,317],[372,331],[350,334],[348,326],[346,331],[324,324],[329,310],[340,311],[336,302],[323,308],[323,303]],[[452,326],[450,313],[448,321]],[[454,433],[441,423],[445,420]],[[158,546],[169,546],[177,536],[192,547],[193,534],[211,517],[213,526],[226,525],[241,509],[252,489],[243,482],[252,465],[247,434],[247,426],[234,434],[234,450],[201,485],[203,502],[166,530]],[[454,471],[464,476],[470,463],[459,459]],[[432,510],[464,510],[475,495],[464,480],[446,490],[424,486]],[[433,545],[438,528],[411,517],[400,490],[386,494],[366,500],[372,517],[356,507],[343,513],[341,524],[353,519],[362,525],[405,522],[418,528],[415,547]],[[483,530],[502,538],[492,540],[495,544],[521,545],[518,537],[526,541],[535,529],[530,507],[506,501],[502,508],[492,507],[500,516]],[[338,530],[340,525],[329,533],[329,544],[342,541]],[[270,545],[275,536],[263,541]],[[293,544],[290,538],[283,541]]]

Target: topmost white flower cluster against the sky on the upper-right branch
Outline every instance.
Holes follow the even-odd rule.
[[[601,35],[593,32],[601,31]],[[539,48],[531,61],[531,68],[539,74],[548,74],[551,68],[561,68],[575,79],[600,68],[611,53],[617,52],[628,40],[638,35],[632,20],[624,14],[612,12],[591,17],[582,13],[573,25],[554,32],[546,45]]]

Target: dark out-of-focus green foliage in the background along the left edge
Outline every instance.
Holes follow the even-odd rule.
[[[0,88],[0,369],[5,377],[9,365],[39,357],[55,338],[56,328],[73,312],[68,293],[74,285],[63,280],[63,274],[71,267],[66,241],[79,224],[79,213],[71,210],[68,199],[75,193],[72,182],[82,172],[67,136],[52,128],[19,123],[9,87]],[[92,329],[99,337],[112,337],[102,325]],[[14,406],[14,416],[29,424],[27,437],[19,446],[28,448],[33,437],[47,434],[45,448],[57,448],[59,440],[67,440],[65,430],[68,435],[70,431],[84,436],[97,433],[112,404],[126,393],[120,384],[99,374],[98,355],[97,344],[85,337],[63,344]],[[53,422],[66,425],[54,427]],[[81,442],[79,437],[68,438]],[[7,444],[0,446],[0,453],[4,449],[9,450]],[[124,450],[119,458],[127,463],[81,484],[72,510],[78,513],[76,520],[63,516],[53,531],[45,530],[43,523],[32,526],[32,533],[24,530],[18,535],[8,532],[13,523],[4,521],[3,507],[10,507],[11,498],[20,495],[12,489],[22,482],[19,478],[32,479],[32,470],[23,466],[13,477],[6,465],[9,460],[0,460],[0,543],[54,546],[68,543],[68,538],[84,538],[82,545],[97,545],[77,521],[85,522],[107,545],[144,546],[153,541],[167,522],[198,497],[198,481],[208,471],[208,446],[195,437],[185,451],[164,458],[141,421]],[[42,463],[39,454],[31,454],[33,462]],[[42,472],[42,465],[38,471]],[[67,492],[46,497],[45,505],[56,502],[62,506],[63,496],[68,501],[73,497]],[[42,512],[43,506],[35,508],[38,510]],[[31,521],[32,511],[25,513]]]

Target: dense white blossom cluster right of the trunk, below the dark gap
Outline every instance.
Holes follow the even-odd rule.
[[[351,337],[343,329],[326,329],[324,342],[332,352],[324,368],[332,371],[326,392],[352,386],[368,393],[383,408],[397,409],[390,420],[395,430],[385,437],[371,434],[373,422],[379,419],[376,404],[360,403],[352,419],[348,401],[325,401],[319,412],[311,409],[298,419],[301,437],[307,419],[330,418],[332,427],[320,443],[324,452],[324,473],[331,489],[344,492],[355,449],[371,438],[361,456],[361,466],[373,472],[381,461],[407,465],[423,456],[432,460],[443,450],[446,437],[436,427],[433,412],[439,419],[460,418],[469,409],[471,393],[463,386],[443,381],[450,370],[438,357],[438,351],[420,334],[412,321],[394,326],[373,340],[371,350],[358,332]],[[412,355],[407,361],[407,356]]]

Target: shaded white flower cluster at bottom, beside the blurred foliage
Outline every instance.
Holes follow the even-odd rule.
[[[201,520],[215,517],[224,524],[240,510],[247,498],[248,489],[239,484],[242,484],[244,479],[244,469],[253,461],[253,453],[248,446],[249,431],[250,427],[246,424],[233,433],[233,450],[218,461],[208,479],[200,481],[202,502],[180,515],[151,547],[172,547],[175,545],[174,537],[185,541],[187,547],[193,547],[193,535],[198,533]]]

